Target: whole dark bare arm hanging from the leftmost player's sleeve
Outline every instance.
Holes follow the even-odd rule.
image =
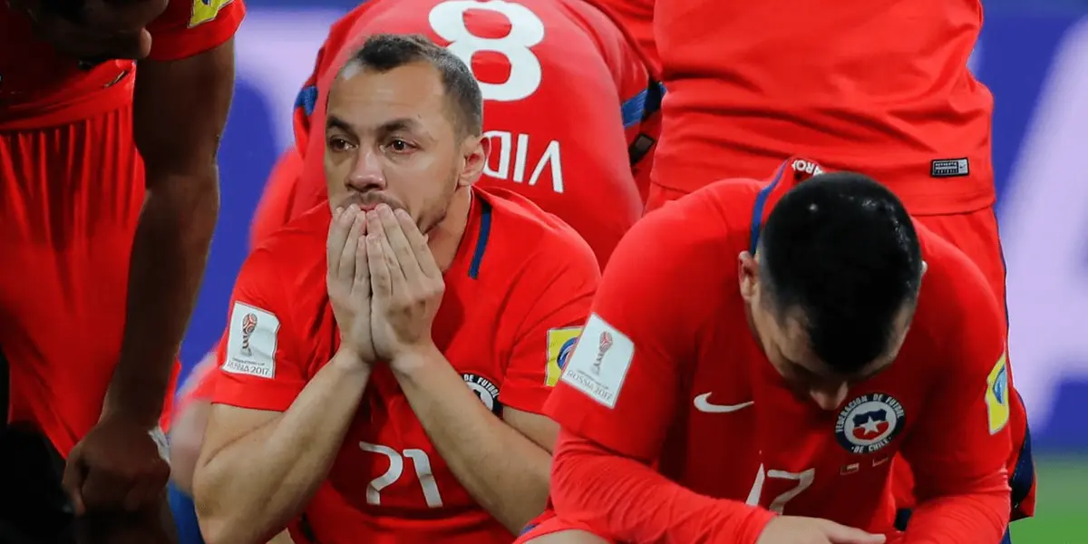
[[[170,394],[219,214],[217,152],[234,92],[234,40],[136,74],[136,147],[147,196],[133,242],[121,359],[106,413],[154,426]]]

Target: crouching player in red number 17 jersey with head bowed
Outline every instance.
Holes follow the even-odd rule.
[[[876,182],[791,159],[712,184],[605,271],[547,403],[555,510],[620,542],[997,543],[1004,350],[977,267]]]

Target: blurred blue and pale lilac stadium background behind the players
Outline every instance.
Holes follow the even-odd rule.
[[[222,333],[249,220],[329,25],[349,0],[250,0],[220,156],[223,208],[183,346]],[[993,91],[993,160],[1009,263],[1011,349],[1039,461],[1039,516],[1017,544],[1088,543],[1088,0],[992,0],[972,64]],[[949,415],[955,417],[955,415]]]

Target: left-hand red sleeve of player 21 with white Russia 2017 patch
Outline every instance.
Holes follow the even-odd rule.
[[[306,386],[306,359],[274,259],[258,248],[238,274],[227,330],[215,353],[213,403],[284,411]]]

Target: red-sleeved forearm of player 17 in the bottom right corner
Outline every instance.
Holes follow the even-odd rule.
[[[1007,490],[922,503],[906,528],[906,544],[1000,542],[1009,526]]]

